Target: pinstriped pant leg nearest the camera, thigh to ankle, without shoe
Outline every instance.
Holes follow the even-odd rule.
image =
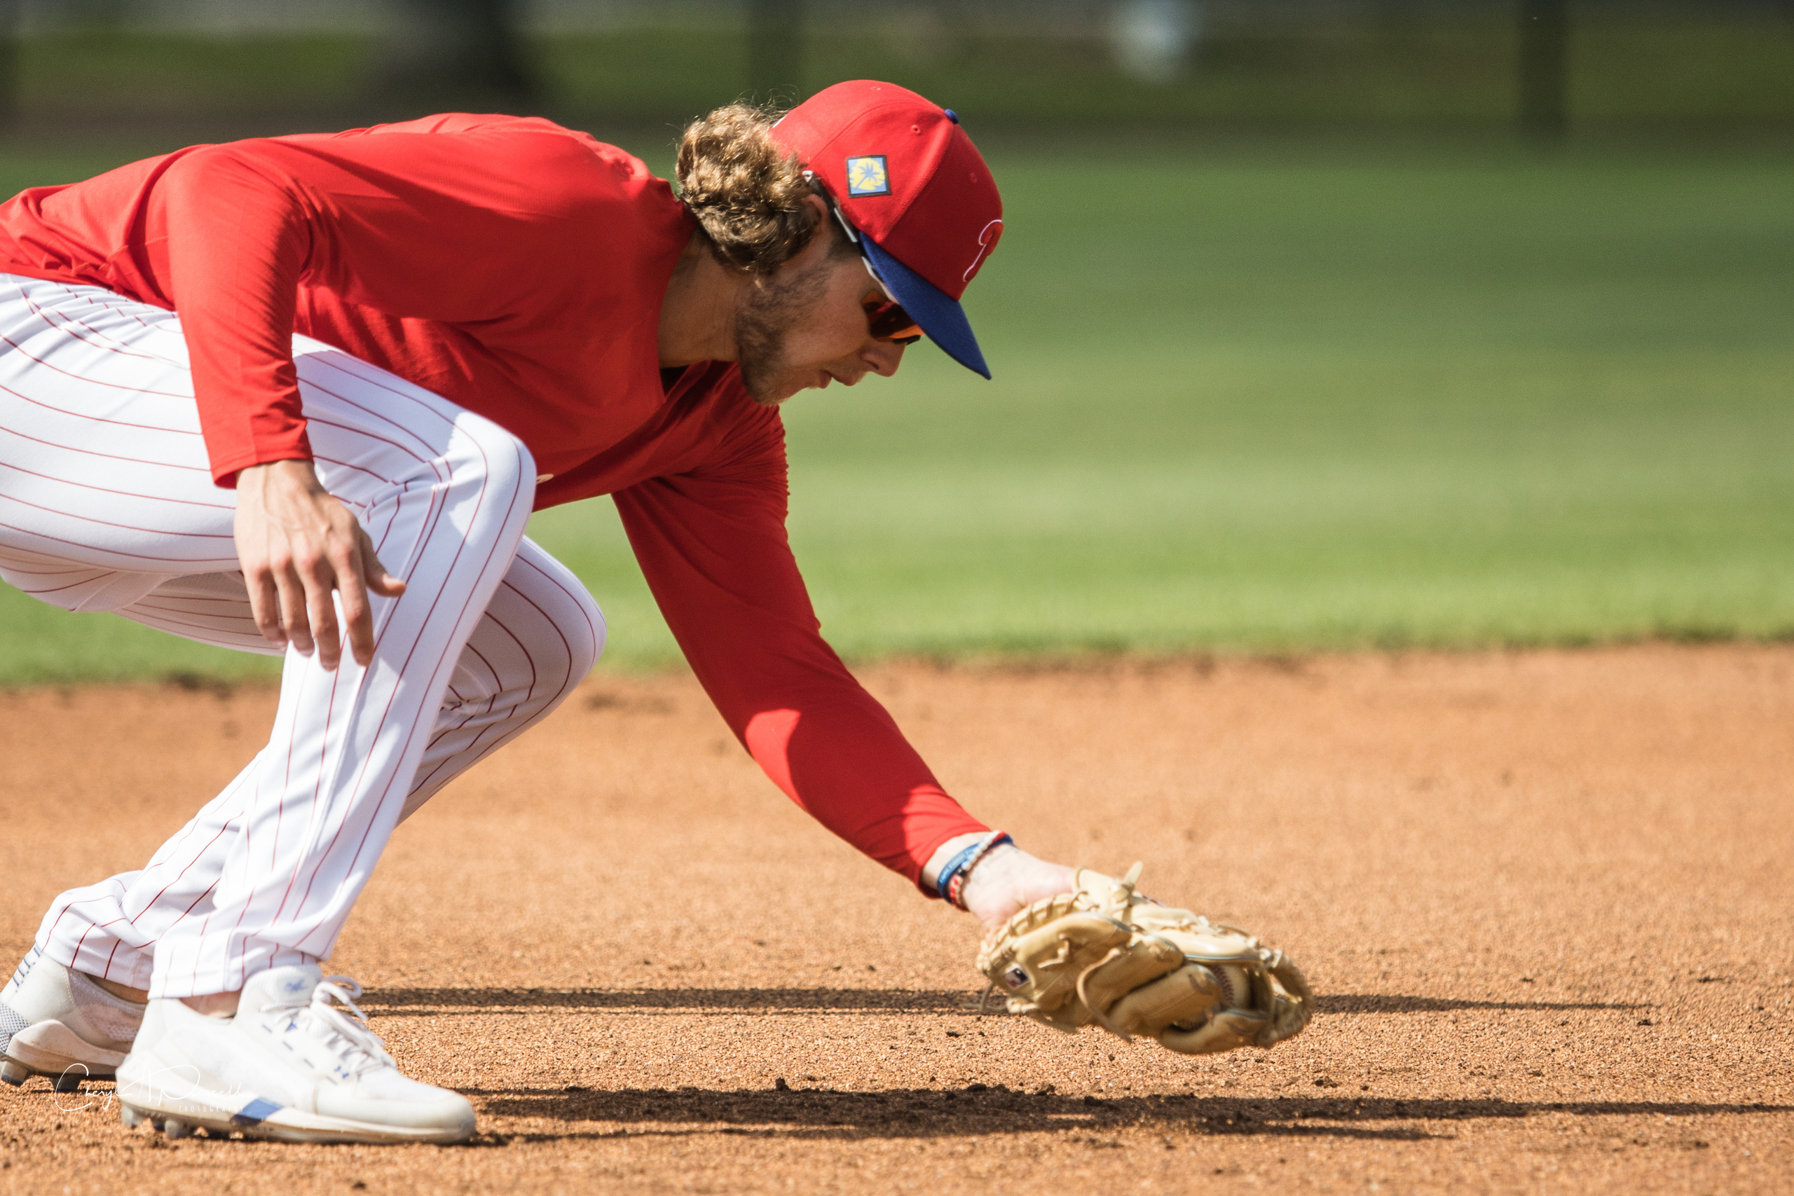
[[[152,997],[235,992],[258,970],[330,954],[535,497],[527,448],[497,425],[346,353],[296,346],[319,477],[407,588],[371,599],[366,669],[328,672],[289,651],[212,909],[160,934]]]

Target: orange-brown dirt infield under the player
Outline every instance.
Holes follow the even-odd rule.
[[[590,681],[404,827],[330,970],[472,1148],[165,1144],[0,1090],[4,1192],[1794,1191],[1794,649],[868,674],[1035,852],[1283,945],[1322,1015],[1186,1060],[976,1017],[976,927]],[[0,694],[4,966],[273,692]],[[784,1085],[779,1085],[779,1081]]]

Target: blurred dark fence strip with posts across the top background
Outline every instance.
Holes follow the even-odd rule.
[[[23,129],[676,122],[884,77],[981,126],[1794,133],[1794,0],[0,0]]]

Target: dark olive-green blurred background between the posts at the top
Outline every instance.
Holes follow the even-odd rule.
[[[1331,11],[1328,11],[1331,9]],[[1769,4],[1681,0],[1577,5],[1568,102],[1579,127],[1780,129],[1794,120],[1794,22]],[[745,29],[714,20],[628,23],[526,38],[542,102],[594,120],[667,126],[748,91]],[[981,22],[974,5],[884,20],[813,22],[807,93],[836,79],[890,79],[969,118],[1037,127],[1509,127],[1512,4],[1218,5],[1189,70],[1164,82],[1123,74],[1100,34]],[[63,127],[126,117],[205,120],[373,113],[395,47],[353,34],[151,34],[104,23],[39,30],[18,45],[25,122]],[[404,54],[396,54],[404,57]],[[413,97],[429,102],[425,97]],[[474,102],[472,99],[468,102]],[[361,118],[357,115],[355,118]],[[291,126],[289,126],[291,127]]]

